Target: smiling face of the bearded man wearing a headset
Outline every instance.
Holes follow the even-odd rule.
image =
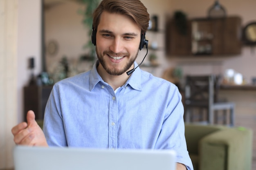
[[[110,75],[121,75],[133,68],[139,51],[141,29],[130,18],[103,12],[96,34],[96,53]]]

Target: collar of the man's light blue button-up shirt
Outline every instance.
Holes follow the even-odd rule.
[[[92,66],[92,70],[90,71],[90,91],[98,84],[99,82],[104,82],[101,76],[97,71],[97,66],[99,65],[99,60],[97,60],[94,65]],[[137,67],[138,64],[134,62],[134,68]],[[124,87],[130,85],[133,89],[137,91],[141,91],[141,70],[140,68],[136,68],[135,71],[130,75],[129,79],[124,84]]]

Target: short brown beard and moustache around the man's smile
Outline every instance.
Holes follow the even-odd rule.
[[[128,71],[128,69],[132,66],[132,64],[135,62],[137,56],[138,56],[139,50],[137,51],[135,56],[130,56],[130,53],[113,53],[112,51],[103,51],[103,53],[101,54],[98,50],[97,50],[97,46],[96,46],[96,54],[98,57],[99,62],[101,63],[101,65],[103,66],[103,68],[106,70],[106,72],[110,75],[122,75],[124,74],[126,71]],[[106,55],[106,56],[105,56]],[[129,58],[128,62],[126,63],[126,65],[124,66],[124,68],[122,69],[118,69],[117,66],[115,64],[112,64],[111,66],[108,66],[108,64],[106,63],[106,61],[104,60],[104,56],[108,57],[108,55],[118,55],[118,56],[126,56]]]

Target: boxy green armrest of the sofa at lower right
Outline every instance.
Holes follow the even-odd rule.
[[[202,138],[200,170],[251,170],[252,130],[229,128]]]

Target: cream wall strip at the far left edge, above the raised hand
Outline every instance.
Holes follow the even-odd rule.
[[[0,0],[0,169],[13,166],[11,127],[17,122],[17,0]]]

